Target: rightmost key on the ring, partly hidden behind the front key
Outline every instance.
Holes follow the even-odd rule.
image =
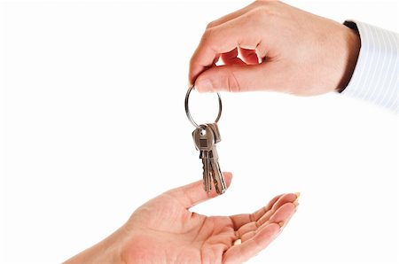
[[[209,167],[208,170],[212,176],[212,180],[215,185],[215,190],[218,194],[223,194],[226,191],[226,183],[224,182],[224,177],[222,171],[219,166],[219,156],[216,151],[216,144],[221,142],[222,138],[220,136],[219,128],[216,123],[207,124],[209,128],[212,129],[215,137],[215,144],[212,147],[212,150],[208,151]]]

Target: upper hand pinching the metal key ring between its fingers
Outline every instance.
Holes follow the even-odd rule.
[[[340,23],[281,2],[257,1],[207,26],[189,80],[200,92],[324,94],[345,89],[359,49],[359,36]],[[215,65],[219,58],[223,66]]]

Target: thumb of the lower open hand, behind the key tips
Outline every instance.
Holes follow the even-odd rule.
[[[223,177],[227,188],[229,188],[232,174],[223,172]],[[202,181],[192,182],[182,187],[168,190],[167,193],[179,200],[179,202],[187,209],[217,196],[215,188],[209,192],[205,191],[204,183]]]

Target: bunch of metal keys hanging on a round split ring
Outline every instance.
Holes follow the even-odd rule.
[[[224,191],[226,191],[226,183],[224,182],[223,174],[219,166],[219,157],[216,151],[216,144],[222,140],[219,128],[217,127],[217,121],[222,114],[222,99],[219,93],[217,93],[217,97],[219,98],[219,113],[215,122],[198,125],[192,119],[188,106],[190,93],[193,88],[194,87],[191,86],[187,91],[184,108],[188,119],[192,125],[196,127],[195,130],[192,131],[192,139],[194,140],[195,148],[200,151],[200,159],[202,159],[204,190],[207,192],[212,190],[213,183],[216,193],[223,194]]]

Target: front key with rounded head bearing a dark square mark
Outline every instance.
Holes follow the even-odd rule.
[[[202,159],[204,190],[209,192],[212,190],[212,175],[208,156],[209,151],[214,147],[215,135],[212,128],[207,125],[201,125],[200,128],[192,131],[192,138],[196,149],[200,151],[200,159]]]

